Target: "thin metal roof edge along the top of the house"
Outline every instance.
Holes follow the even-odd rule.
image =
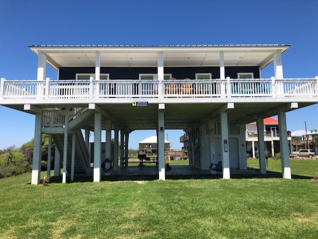
[[[28,47],[290,47],[290,44],[229,44],[229,45],[28,45]]]

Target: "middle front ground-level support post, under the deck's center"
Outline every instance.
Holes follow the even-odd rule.
[[[158,108],[158,169],[159,180],[165,180],[164,168],[164,104],[159,103]]]

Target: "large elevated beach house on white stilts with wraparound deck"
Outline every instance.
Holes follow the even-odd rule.
[[[63,182],[67,173],[71,179],[74,173],[92,174],[93,181],[100,181],[102,162],[112,160],[114,171],[123,167],[129,133],[142,129],[157,130],[159,179],[165,179],[165,129],[186,130],[192,166],[208,170],[211,162],[221,161],[223,178],[230,178],[232,169],[247,168],[245,124],[254,121],[260,173],[266,173],[263,119],[273,115],[278,115],[282,175],[291,178],[285,114],[318,102],[318,78],[283,76],[282,53],[290,45],[29,48],[38,55],[37,79],[1,79],[0,104],[35,115],[32,184],[40,182],[43,133],[51,135],[60,153],[55,173],[62,160]],[[271,62],[273,77],[262,79],[261,70]],[[47,63],[57,79],[46,78]],[[112,130],[115,145],[119,135],[121,143],[113,153]],[[92,162],[89,132],[94,135]]]

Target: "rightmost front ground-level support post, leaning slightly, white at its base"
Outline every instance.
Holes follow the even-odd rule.
[[[289,164],[289,150],[287,139],[287,125],[286,125],[286,113],[278,112],[278,129],[279,129],[279,145],[280,145],[280,157],[282,161],[282,174],[283,178],[291,179],[291,171]]]

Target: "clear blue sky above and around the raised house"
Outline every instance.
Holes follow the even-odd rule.
[[[318,76],[317,0],[0,0],[0,77],[36,79],[28,44],[292,44],[285,78]],[[262,77],[273,76],[273,66]],[[47,77],[56,79],[47,68]],[[291,131],[318,128],[318,105],[287,113]],[[182,131],[167,131],[180,149]],[[0,106],[0,149],[33,138],[34,116]],[[155,131],[133,132],[130,148]]]

